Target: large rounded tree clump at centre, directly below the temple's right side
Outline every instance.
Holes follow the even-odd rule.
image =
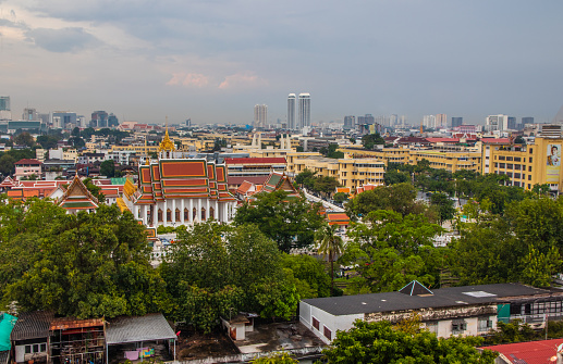
[[[276,242],[254,225],[215,222],[179,233],[160,271],[175,300],[178,319],[208,332],[219,316],[238,311],[291,317],[298,294],[291,271],[281,266]]]

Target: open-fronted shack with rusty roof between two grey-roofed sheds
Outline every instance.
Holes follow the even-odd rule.
[[[105,363],[106,335],[102,318],[56,318],[51,324],[49,334],[51,363]]]

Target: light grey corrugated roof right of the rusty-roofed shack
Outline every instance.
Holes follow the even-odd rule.
[[[175,339],[176,335],[161,313],[110,319],[106,328],[108,344]]]

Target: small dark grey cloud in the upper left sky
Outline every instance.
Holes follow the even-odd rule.
[[[27,37],[37,47],[58,53],[77,51],[98,42],[96,37],[79,27],[62,29],[36,28],[27,32]]]

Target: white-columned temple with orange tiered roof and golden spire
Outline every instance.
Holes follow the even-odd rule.
[[[209,218],[230,223],[236,200],[227,189],[227,168],[176,152],[168,129],[156,160],[139,165],[138,183],[127,179],[118,205],[146,226],[193,225]]]

